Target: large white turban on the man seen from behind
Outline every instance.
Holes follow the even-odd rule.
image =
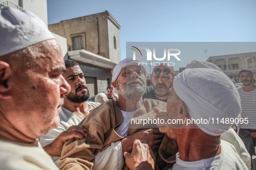
[[[185,69],[173,80],[173,88],[193,119],[210,120],[209,124],[197,124],[209,135],[217,136],[230,128],[232,124],[220,123],[222,118],[240,117],[239,93],[223,72],[205,68]],[[219,118],[219,124],[216,118]]]

